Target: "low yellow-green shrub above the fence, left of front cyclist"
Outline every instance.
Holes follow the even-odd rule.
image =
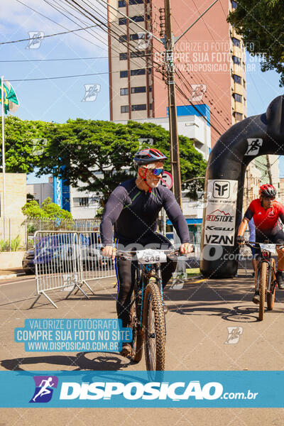
[[[43,201],[41,208],[35,200],[26,202],[26,204],[22,207],[22,212],[25,216],[33,217],[35,219],[72,220],[72,214],[67,212],[67,210],[61,209],[58,204],[51,202],[50,197]]]

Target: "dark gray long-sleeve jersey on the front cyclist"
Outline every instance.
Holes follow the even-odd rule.
[[[113,244],[113,225],[114,237],[120,243],[151,242],[162,207],[165,208],[180,241],[190,242],[185,217],[173,192],[163,185],[158,185],[151,192],[145,192],[139,190],[135,181],[135,179],[126,180],[111,192],[100,227],[102,244],[105,246]]]

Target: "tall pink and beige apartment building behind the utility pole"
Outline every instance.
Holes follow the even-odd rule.
[[[111,120],[167,117],[165,48],[144,30],[165,36],[163,0],[108,2]],[[172,1],[173,35],[182,34],[211,3]],[[177,106],[183,116],[202,116],[211,126],[211,146],[231,124],[246,118],[244,43],[226,22],[236,6],[233,0],[218,1],[175,45]]]

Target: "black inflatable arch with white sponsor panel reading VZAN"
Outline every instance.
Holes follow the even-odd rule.
[[[240,121],[212,149],[205,180],[200,270],[207,278],[233,278],[238,268],[246,168],[258,155],[284,155],[284,96],[266,113]]]

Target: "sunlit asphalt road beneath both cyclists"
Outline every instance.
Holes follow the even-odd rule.
[[[244,273],[244,271],[243,271]],[[26,318],[114,318],[115,278],[93,282],[95,295],[63,300],[65,292],[50,293],[55,309],[45,297],[31,310],[35,299],[33,277],[0,282],[1,370],[143,370],[145,361],[133,364],[119,354],[31,353],[13,342],[13,329]],[[170,286],[169,286],[170,287]],[[258,322],[251,302],[253,278],[193,280],[180,290],[165,291],[167,320],[167,370],[283,370],[284,291],[277,291],[275,309]],[[227,327],[241,327],[236,344],[227,344]],[[1,409],[4,425],[283,425],[282,409],[167,408],[167,409]]]

